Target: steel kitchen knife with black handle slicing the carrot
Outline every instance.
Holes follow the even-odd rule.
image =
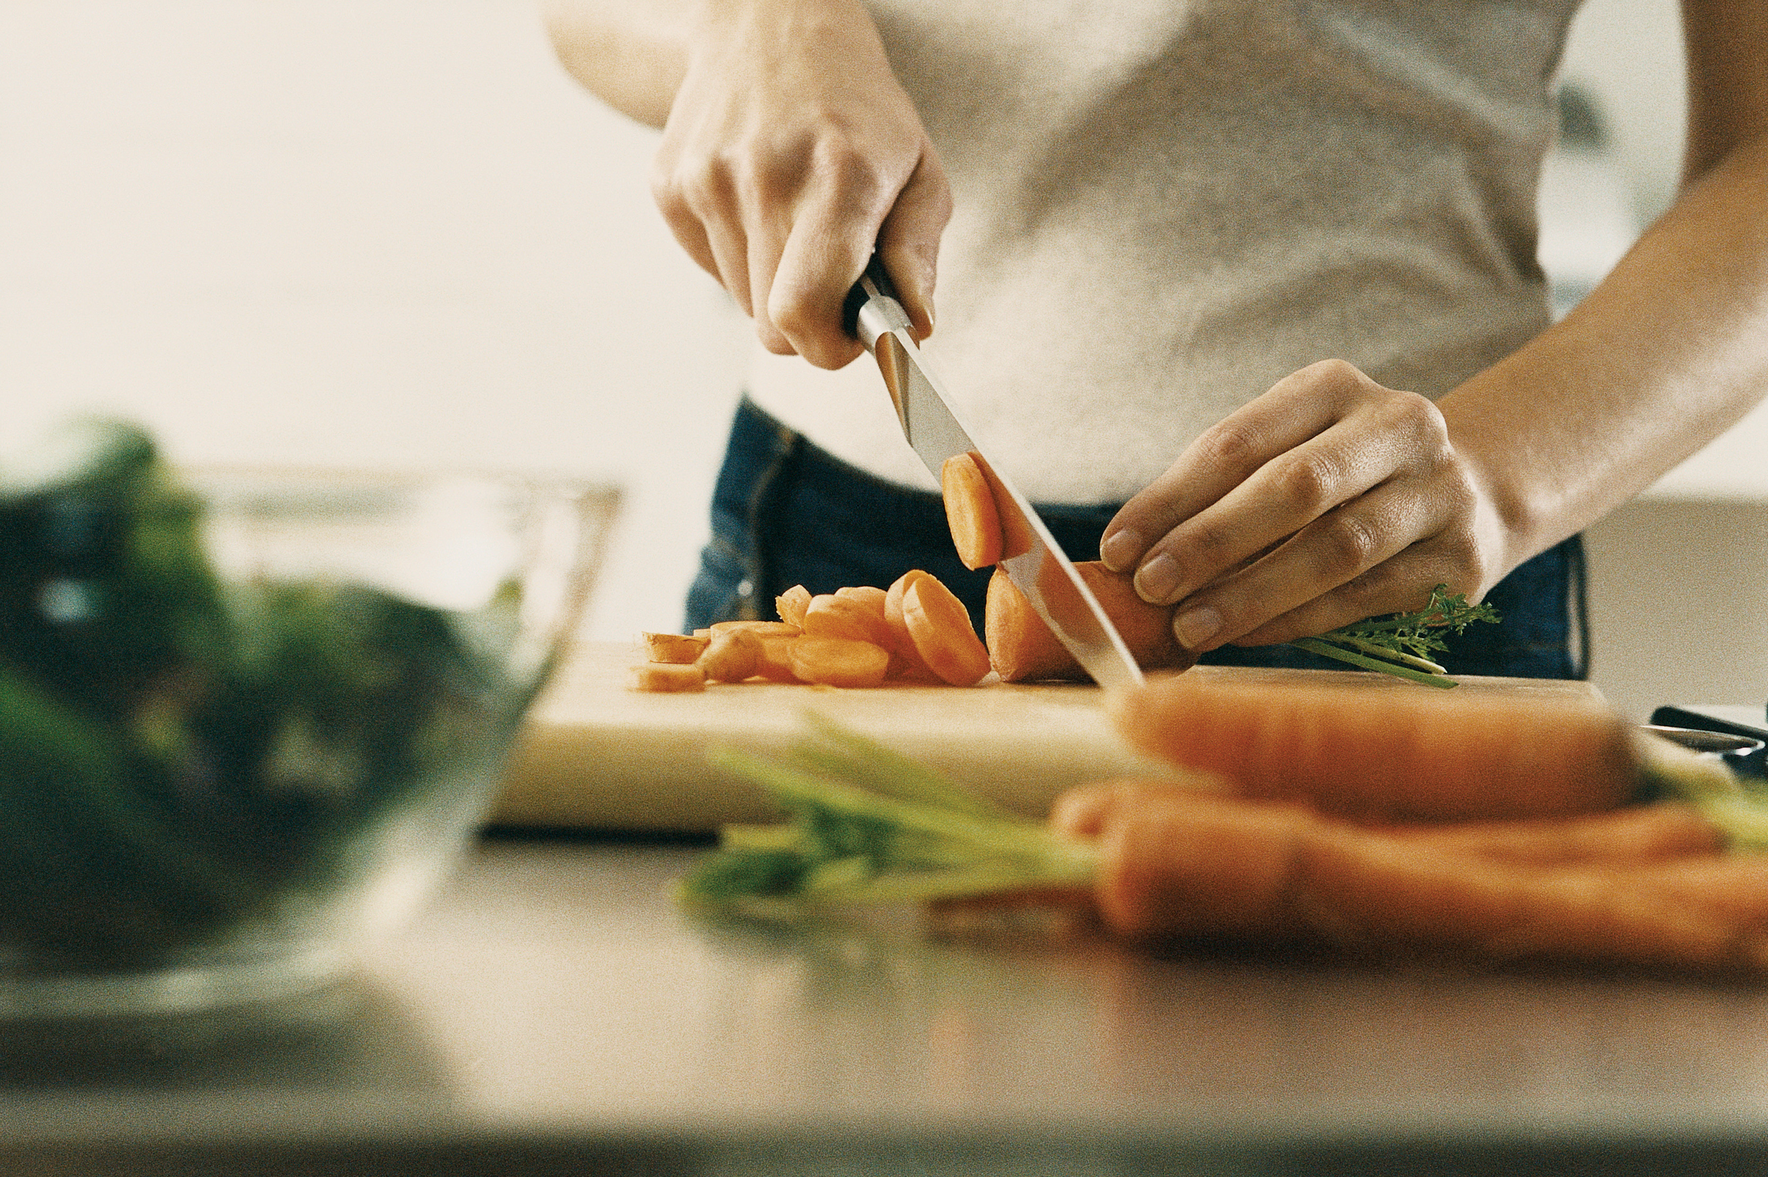
[[[1002,553],[1001,567],[1025,594],[1031,606],[1050,626],[1063,647],[1101,687],[1137,686],[1142,670],[1135,664],[1123,634],[1105,617],[1098,597],[1080,580],[1073,562],[1063,555],[1050,528],[1031,502],[1018,493],[1001,468],[983,456],[972,433],[960,422],[946,385],[934,373],[914,339],[909,313],[877,254],[847,293],[843,306],[847,332],[872,352],[884,375],[884,385],[896,405],[896,419],[911,449],[939,479],[948,458],[971,454],[994,493],[1001,527],[1018,543]]]

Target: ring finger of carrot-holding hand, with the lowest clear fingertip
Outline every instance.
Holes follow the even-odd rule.
[[[1186,597],[1174,613],[1172,633],[1185,649],[1200,654],[1261,631],[1284,615],[1291,615],[1292,626],[1333,619],[1321,629],[1298,629],[1280,638],[1287,642],[1361,620],[1372,611],[1393,611],[1370,610],[1370,603],[1384,603],[1383,597],[1402,583],[1402,574],[1409,578],[1406,592],[1416,594],[1420,555],[1429,562],[1444,562],[1429,546],[1409,560],[1395,562],[1393,557],[1413,550],[1420,537],[1434,535],[1443,525],[1437,505],[1409,486],[1383,486],[1328,511],[1269,555]],[[1464,567],[1455,569],[1450,583],[1464,574]]]

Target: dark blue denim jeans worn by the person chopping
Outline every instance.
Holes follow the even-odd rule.
[[[1073,560],[1096,560],[1109,505],[1038,504]],[[806,442],[748,401],[739,405],[718,484],[713,537],[688,590],[688,629],[714,620],[771,619],[792,585],[834,592],[886,587],[919,567],[942,580],[981,633],[990,569],[958,562],[939,495],[875,479]],[[1586,645],[1584,548],[1572,537],[1517,567],[1485,597],[1503,617],[1448,638],[1452,673],[1582,679]],[[1287,645],[1223,647],[1204,656],[1227,666],[1335,663]]]

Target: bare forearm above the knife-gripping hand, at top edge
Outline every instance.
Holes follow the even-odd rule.
[[[661,127],[688,69],[697,0],[545,0],[553,51],[591,94]]]

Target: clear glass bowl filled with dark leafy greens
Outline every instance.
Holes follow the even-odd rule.
[[[410,917],[497,799],[610,488],[0,463],[0,1018],[276,999]]]

